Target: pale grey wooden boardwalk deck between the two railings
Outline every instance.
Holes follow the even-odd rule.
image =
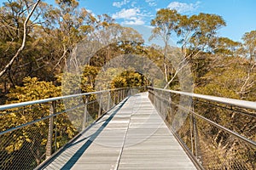
[[[196,169],[148,93],[125,99],[44,169]]]

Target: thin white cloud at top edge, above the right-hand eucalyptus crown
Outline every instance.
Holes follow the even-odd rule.
[[[196,3],[172,2],[167,6],[167,8],[176,9],[178,13],[189,13],[199,8],[200,3],[201,2],[199,1],[197,1]]]

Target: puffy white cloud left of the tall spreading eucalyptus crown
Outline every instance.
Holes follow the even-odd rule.
[[[119,12],[113,14],[112,18],[124,20],[122,24],[125,25],[143,25],[145,24],[143,21],[144,16],[145,14],[142,14],[139,8],[123,8]]]

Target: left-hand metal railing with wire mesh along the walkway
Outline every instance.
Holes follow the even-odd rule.
[[[33,169],[140,88],[0,105],[0,169]]]

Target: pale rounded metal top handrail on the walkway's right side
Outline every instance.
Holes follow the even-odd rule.
[[[162,88],[151,88],[151,89],[161,90],[164,92],[171,92],[174,94],[182,94],[189,97],[195,97],[198,99],[207,99],[208,101],[218,102],[225,105],[234,105],[234,106],[242,107],[245,109],[256,110],[256,102],[253,102],[253,101],[247,101],[247,100],[241,100],[241,99],[229,99],[229,98],[223,98],[223,97],[216,97],[212,95],[194,94],[194,93],[180,92],[180,91],[168,90],[168,89],[162,89]]]

